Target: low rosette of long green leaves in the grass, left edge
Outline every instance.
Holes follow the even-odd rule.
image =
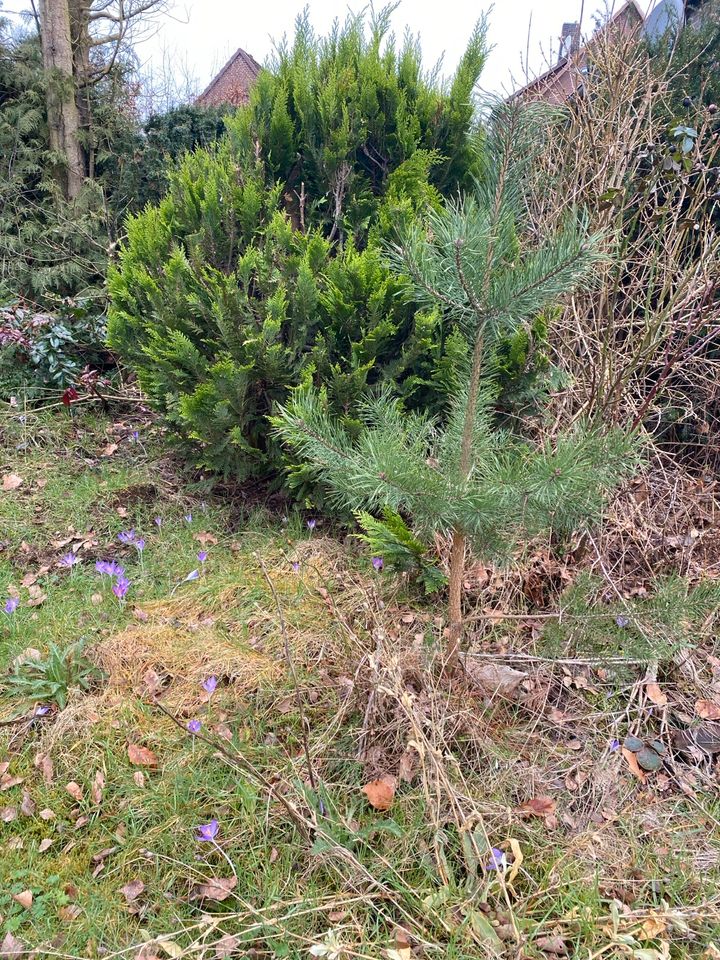
[[[6,692],[25,703],[55,703],[63,710],[72,690],[90,690],[102,679],[84,647],[82,640],[63,649],[51,643],[45,659],[22,658],[4,681]]]

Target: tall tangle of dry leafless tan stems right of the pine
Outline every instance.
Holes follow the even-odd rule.
[[[554,326],[554,359],[571,382],[556,398],[558,424],[580,415],[641,422],[674,452],[713,464],[720,140],[710,114],[672,101],[673,69],[634,36],[598,34],[582,93],[537,170],[533,226],[552,230],[577,204],[606,233],[610,255],[595,289],[574,296]],[[667,174],[656,164],[643,179],[649,146],[669,155],[672,117],[699,130],[692,170]]]

